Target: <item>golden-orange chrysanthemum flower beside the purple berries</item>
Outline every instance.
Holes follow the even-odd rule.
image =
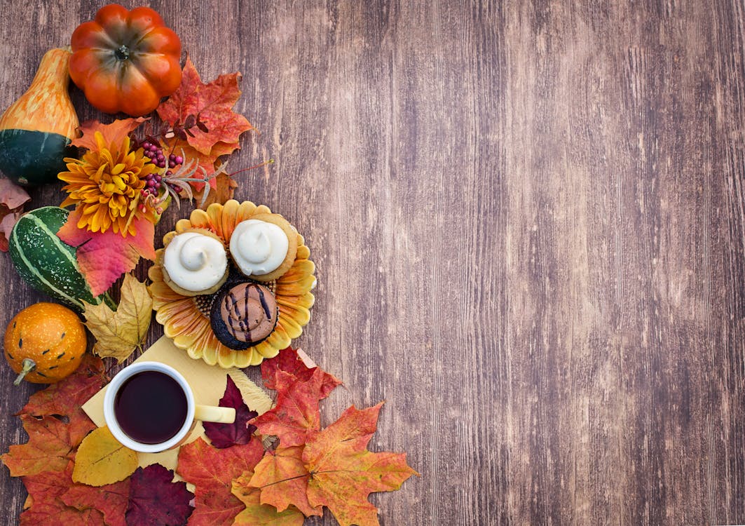
[[[89,150],[80,159],[66,158],[67,169],[58,174],[68,183],[69,193],[60,206],[77,206],[80,212],[78,228],[104,233],[135,235],[133,219],[140,212],[137,204],[145,188],[145,179],[158,171],[142,148],[130,151],[130,138],[120,145],[104,142],[101,132],[95,133],[96,150]]]

